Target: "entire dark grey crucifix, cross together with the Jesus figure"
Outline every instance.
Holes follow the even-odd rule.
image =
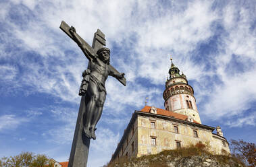
[[[74,133],[72,149],[68,167],[85,167],[88,159],[90,139],[96,139],[96,125],[101,118],[103,104],[106,98],[105,81],[108,75],[116,77],[124,86],[126,78],[124,73],[118,72],[110,61],[109,48],[105,48],[105,35],[101,30],[95,32],[93,45],[90,46],[77,33],[74,27],[61,22],[59,26],[78,46],[88,59],[88,67],[82,73],[82,84],[79,95],[82,96],[76,130]]]

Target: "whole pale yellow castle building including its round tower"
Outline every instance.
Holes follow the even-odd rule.
[[[165,82],[165,109],[145,106],[135,110],[111,161],[121,157],[140,157],[204,143],[213,154],[230,154],[222,129],[201,124],[193,88],[186,75],[172,63]],[[213,131],[216,129],[216,133]]]

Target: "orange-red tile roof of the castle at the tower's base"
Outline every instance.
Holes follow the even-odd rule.
[[[142,112],[150,112],[151,106],[145,106],[143,109],[141,109],[140,111]],[[164,116],[173,116],[176,119],[181,119],[186,121],[186,119],[188,119],[188,116],[184,115],[184,114],[178,114],[175,112],[172,112],[170,110],[163,110],[161,108],[157,108],[157,114],[160,115],[164,115]],[[198,123],[197,121],[193,120],[194,123]]]

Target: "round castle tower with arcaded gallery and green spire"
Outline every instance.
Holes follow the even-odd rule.
[[[172,59],[171,59],[172,61]],[[188,85],[186,75],[180,75],[180,69],[172,63],[169,70],[170,77],[165,82],[163,99],[165,110],[188,116],[188,121],[201,123],[197,110],[193,88]]]

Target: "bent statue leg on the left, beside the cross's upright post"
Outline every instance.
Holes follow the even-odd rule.
[[[88,138],[92,137],[90,127],[92,127],[93,114],[97,110],[97,101],[99,101],[99,91],[97,85],[90,81],[86,92],[89,102],[86,105],[86,112],[84,112],[84,133]]]

